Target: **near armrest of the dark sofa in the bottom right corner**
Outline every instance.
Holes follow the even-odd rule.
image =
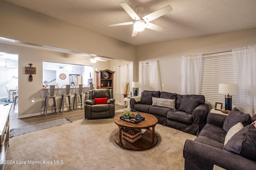
[[[212,170],[214,164],[227,170],[249,170],[256,167],[256,162],[252,160],[192,140],[185,142],[183,157],[185,170]]]

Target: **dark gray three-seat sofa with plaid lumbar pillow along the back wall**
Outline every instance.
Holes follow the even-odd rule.
[[[150,113],[163,126],[198,135],[206,124],[208,105],[202,95],[144,90],[130,99],[131,111]]]

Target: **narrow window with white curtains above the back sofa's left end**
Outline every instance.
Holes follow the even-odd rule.
[[[144,90],[162,91],[158,61],[139,63],[139,82],[140,92]]]

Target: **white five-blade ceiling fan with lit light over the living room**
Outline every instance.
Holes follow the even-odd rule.
[[[135,37],[138,32],[143,31],[145,28],[153,29],[156,31],[164,31],[166,28],[160,27],[154,23],[150,23],[150,21],[155,20],[156,18],[159,18],[160,16],[163,16],[163,15],[167,14],[168,12],[172,11],[172,7],[170,5],[168,5],[164,8],[161,8],[160,10],[152,12],[151,14],[148,14],[148,15],[142,17],[142,19],[140,19],[140,17],[136,14],[136,12],[134,12],[134,10],[132,10],[132,8],[128,4],[126,4],[126,2],[120,2],[119,4],[124,8],[124,10],[129,14],[129,16],[134,21],[124,22],[124,23],[115,23],[115,24],[111,24],[108,26],[114,27],[114,26],[120,26],[120,25],[132,25],[133,24],[134,29],[132,31],[132,37]],[[144,10],[144,8],[142,6],[137,6],[135,9],[139,14]]]

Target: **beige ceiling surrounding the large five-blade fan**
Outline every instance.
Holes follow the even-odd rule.
[[[256,28],[256,0],[6,1],[133,45]],[[143,6],[144,11],[138,14],[140,17],[172,6],[171,12],[151,21],[165,27],[166,31],[145,29],[131,37],[132,25],[108,27],[113,23],[133,21],[119,2],[126,2],[134,11],[136,6]]]

